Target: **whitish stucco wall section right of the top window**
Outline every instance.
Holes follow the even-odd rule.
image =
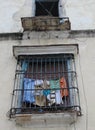
[[[67,0],[65,6],[73,30],[95,28],[94,0]]]

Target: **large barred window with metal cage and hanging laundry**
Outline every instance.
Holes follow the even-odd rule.
[[[19,55],[10,116],[72,110],[81,111],[74,55]]]

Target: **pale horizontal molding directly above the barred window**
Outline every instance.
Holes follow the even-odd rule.
[[[78,44],[47,45],[47,46],[13,46],[13,55],[43,55],[43,54],[77,54]]]

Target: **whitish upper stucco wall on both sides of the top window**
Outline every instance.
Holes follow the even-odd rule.
[[[21,32],[21,17],[35,15],[35,0],[0,0],[0,33]],[[94,0],[61,0],[63,15],[71,21],[72,30],[95,28]]]

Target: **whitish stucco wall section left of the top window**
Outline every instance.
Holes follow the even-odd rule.
[[[34,0],[0,0],[0,33],[21,32],[21,17],[34,16]]]

